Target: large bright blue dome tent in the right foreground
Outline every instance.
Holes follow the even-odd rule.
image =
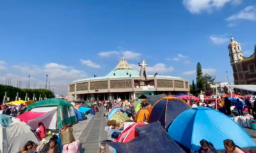
[[[256,147],[252,137],[234,120],[216,110],[197,107],[186,110],[177,117],[168,135],[193,152],[200,149],[200,140],[211,142],[216,150],[223,150],[223,141],[233,140],[241,148]]]

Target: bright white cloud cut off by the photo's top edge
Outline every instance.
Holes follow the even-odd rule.
[[[233,0],[237,1],[237,0]],[[191,13],[201,13],[202,11],[211,12],[214,9],[220,9],[232,0],[183,0],[184,6]]]

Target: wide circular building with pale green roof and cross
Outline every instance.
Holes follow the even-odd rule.
[[[123,57],[105,77],[76,80],[68,85],[68,101],[136,99],[141,94],[180,94],[189,92],[187,80],[179,77],[147,75],[147,62],[136,71]]]

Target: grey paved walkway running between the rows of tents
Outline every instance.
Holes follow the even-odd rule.
[[[81,142],[81,153],[97,153],[99,152],[99,141],[110,140],[111,133],[104,131],[107,126],[106,119],[103,117],[104,108],[100,107],[99,112],[90,119],[86,128],[81,133],[79,140]],[[107,147],[106,152],[111,152]]]

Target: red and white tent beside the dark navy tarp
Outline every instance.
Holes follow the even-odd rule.
[[[136,128],[140,126],[145,126],[147,123],[140,122],[140,123],[134,123],[131,124],[131,126],[128,126],[119,136],[117,142],[131,142],[134,138],[138,137],[138,132],[136,131]]]

